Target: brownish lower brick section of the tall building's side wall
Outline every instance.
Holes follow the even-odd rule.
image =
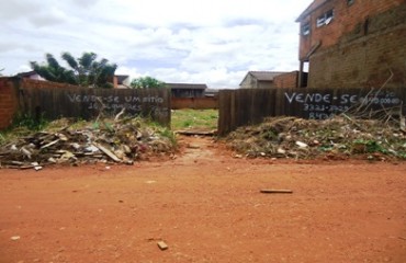
[[[387,88],[406,87],[406,26],[403,30],[365,37],[316,53],[311,57],[311,88]]]

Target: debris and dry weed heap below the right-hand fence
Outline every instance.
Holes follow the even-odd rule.
[[[226,141],[239,152],[238,157],[406,160],[403,125],[354,119],[347,115],[325,121],[267,118],[260,125],[238,128]]]

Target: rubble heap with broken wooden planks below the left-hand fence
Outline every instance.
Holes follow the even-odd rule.
[[[0,146],[0,168],[41,170],[53,163],[116,162],[132,164],[176,149],[172,133],[139,118],[119,122],[59,119],[46,129],[16,136]]]

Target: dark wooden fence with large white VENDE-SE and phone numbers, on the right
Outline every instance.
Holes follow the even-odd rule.
[[[218,135],[258,124],[268,116],[325,119],[342,112],[393,111],[406,113],[406,88],[398,89],[239,89],[222,90]],[[360,108],[361,108],[360,107]]]

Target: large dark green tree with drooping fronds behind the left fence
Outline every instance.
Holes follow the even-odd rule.
[[[63,53],[61,58],[70,69],[61,67],[50,54],[46,54],[45,58],[46,64],[44,65],[38,65],[35,61],[30,64],[31,68],[46,80],[93,88],[113,87],[110,81],[112,81],[117,66],[109,64],[105,58],[98,61],[98,55],[94,53],[83,53],[77,59],[69,53]]]

